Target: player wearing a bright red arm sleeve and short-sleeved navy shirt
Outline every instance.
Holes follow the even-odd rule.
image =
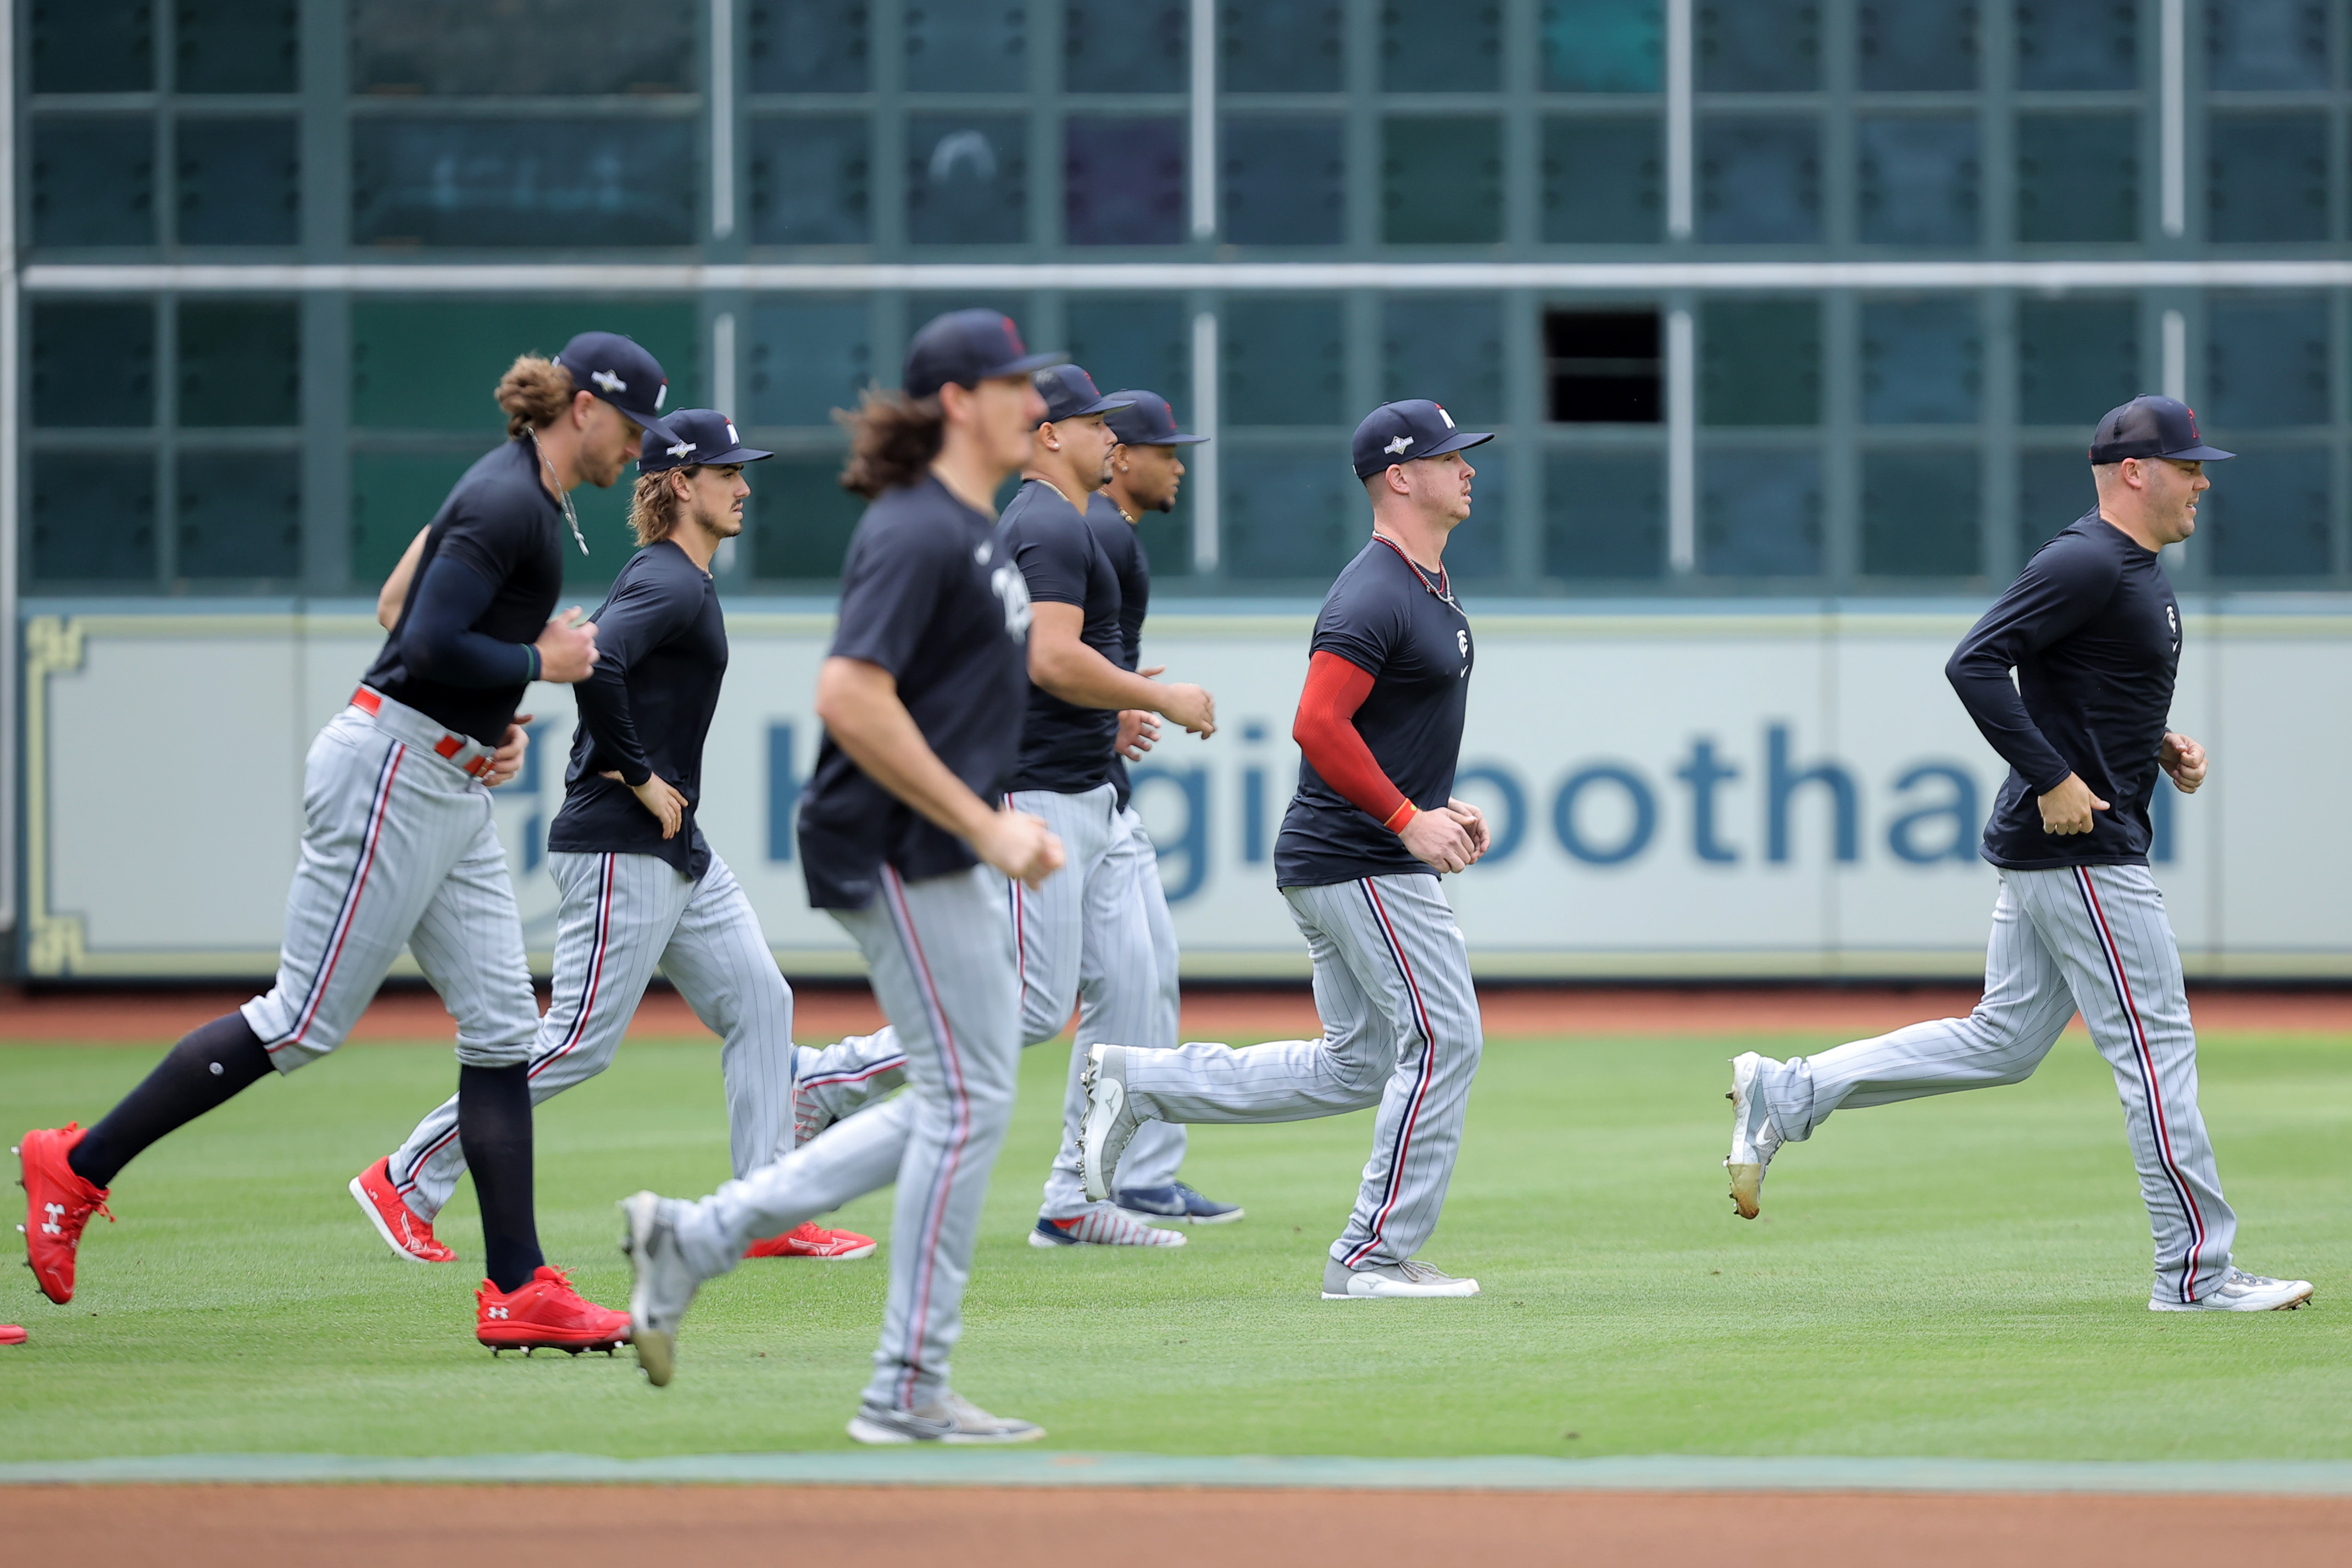
[[[1470,618],[1442,564],[1494,440],[1435,402],[1390,402],[1355,428],[1374,534],[1331,583],[1291,736],[1298,795],[1275,882],[1315,957],[1322,1039],[1232,1051],[1094,1046],[1080,1157],[1089,1197],[1117,1190],[1145,1121],[1301,1121],[1378,1105],[1371,1161],[1324,1262],[1324,1300],[1477,1295],[1414,1258],[1437,1227],[1482,1027],[1470,952],[1435,875],[1486,851],[1451,797],[1470,693]],[[1432,875],[1435,872],[1435,875]]]

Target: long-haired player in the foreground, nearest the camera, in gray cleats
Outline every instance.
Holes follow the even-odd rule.
[[[1044,400],[993,310],[915,334],[903,393],[868,393],[842,484],[873,505],[842,567],[840,630],[816,679],[826,741],[800,797],[809,903],[856,938],[908,1056],[908,1088],[793,1154],[687,1204],[621,1204],[637,1281],[630,1338],[649,1382],[675,1371],[696,1288],[753,1237],[793,1229],[898,1182],[875,1373],[849,1422],[861,1443],[1021,1443],[1025,1420],[948,1387],[981,1199],[1011,1119],[1021,976],[1007,879],[1063,860],[1042,820],[995,802],[1028,701],[1028,588],[1004,559],[997,487]]]

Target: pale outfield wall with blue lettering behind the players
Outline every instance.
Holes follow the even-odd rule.
[[[2192,973],[2352,976],[2352,607],[2187,607],[2173,722],[2213,752],[2159,788],[2157,877]],[[1973,607],[1477,614],[1461,792],[1496,825],[1449,879],[1489,976],[1969,976],[2002,769],[1943,684]],[[1190,976],[1303,976],[1272,886],[1296,776],[1305,609],[1162,614],[1145,658],[1218,696],[1211,741],[1138,769]],[[807,907],[793,806],[826,614],[739,609],[703,827],[790,973],[854,973]],[[301,762],[381,632],[365,614],[33,614],[24,971],[261,976],[301,832]],[[499,790],[532,950],[572,733],[534,686],[534,766]]]

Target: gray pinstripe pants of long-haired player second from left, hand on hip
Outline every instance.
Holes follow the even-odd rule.
[[[715,853],[694,882],[661,856],[550,853],[564,900],[555,917],[555,994],[532,1044],[532,1105],[612,1065],[659,964],[694,1016],[727,1041],[727,1145],[750,1175],[793,1150],[793,990],[760,917]],[[437,1105],[393,1154],[393,1187],[430,1220],[456,1192],[466,1152],[456,1098]]]

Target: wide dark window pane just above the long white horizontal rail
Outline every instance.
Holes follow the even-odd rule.
[[[355,120],[362,244],[687,244],[687,120]]]

